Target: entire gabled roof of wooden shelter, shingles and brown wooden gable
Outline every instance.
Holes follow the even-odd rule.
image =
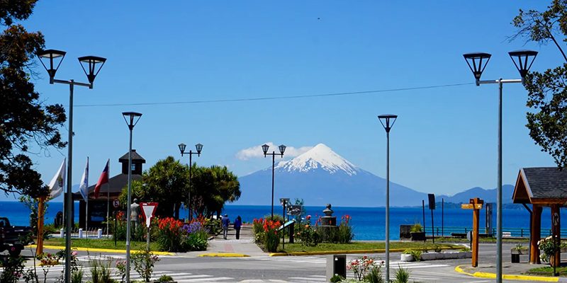
[[[560,171],[557,167],[521,168],[512,200],[514,203],[544,206],[565,204],[567,171]]]

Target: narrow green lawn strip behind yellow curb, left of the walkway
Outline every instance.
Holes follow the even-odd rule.
[[[45,246],[65,246],[64,238],[50,238],[43,241]],[[130,241],[131,250],[145,250],[146,242]],[[116,246],[114,246],[114,240],[112,239],[72,239],[72,248],[106,248],[111,250],[125,250],[126,241],[117,241]],[[150,243],[150,250],[159,250],[157,243]]]

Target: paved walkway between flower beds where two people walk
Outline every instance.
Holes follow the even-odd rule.
[[[268,255],[254,243],[252,224],[243,224],[240,229],[240,239],[236,239],[236,231],[228,229],[228,239],[223,234],[214,236],[208,241],[205,251],[187,253],[190,256],[218,256],[218,257],[247,257]]]

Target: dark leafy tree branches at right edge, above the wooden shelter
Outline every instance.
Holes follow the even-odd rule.
[[[533,110],[526,115],[529,136],[559,168],[567,167],[567,56],[562,47],[567,41],[566,4],[566,0],[554,0],[544,12],[520,10],[512,22],[518,29],[512,40],[522,37],[540,45],[553,42],[564,60],[543,73],[530,72],[525,79],[526,104]]]

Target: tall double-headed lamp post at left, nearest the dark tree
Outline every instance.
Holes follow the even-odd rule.
[[[72,79],[70,80],[60,80],[60,79],[55,79],[55,73],[57,72],[57,69],[59,69],[59,66],[61,65],[61,62],[63,62],[63,58],[65,57],[65,54],[67,54],[67,52],[61,51],[61,50],[43,50],[38,52],[38,57],[40,58],[40,62],[43,65],[43,67],[45,68],[45,70],[47,71],[47,74],[49,74],[49,83],[53,84],[53,83],[63,83],[63,84],[68,84],[69,85],[69,146],[68,146],[68,161],[67,161],[67,194],[64,197],[64,206],[67,206],[67,222],[66,222],[66,229],[67,229],[67,233],[65,233],[65,275],[64,275],[64,282],[70,282],[71,280],[71,265],[69,262],[71,262],[71,222],[73,219],[73,209],[72,209],[72,196],[71,196],[71,185],[72,185],[72,165],[73,165],[73,90],[74,90],[74,86],[87,86],[89,88],[93,88],[93,82],[94,79],[96,78],[96,75],[99,74],[99,71],[101,71],[104,62],[106,62],[106,58],[103,57],[96,57],[96,56],[85,56],[85,57],[79,57],[79,64],[81,64],[81,67],[83,68],[84,74],[86,74],[86,78],[89,79],[89,83],[79,83],[77,81],[74,81]],[[45,66],[45,63],[43,62],[47,62],[47,66]],[[57,63],[57,61],[59,61]],[[54,64],[55,63],[55,64]],[[87,69],[89,69],[89,71],[87,72],[84,69],[84,65],[87,65]],[[57,66],[55,66],[57,65]]]

